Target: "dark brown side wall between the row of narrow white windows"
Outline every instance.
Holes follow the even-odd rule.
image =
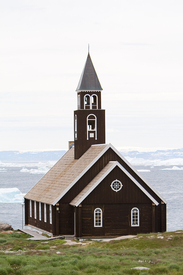
[[[36,219],[34,218],[34,200],[32,200],[32,217],[30,217],[30,200],[27,201],[27,221],[28,224],[38,227],[40,229],[46,230],[53,233],[53,223],[54,223],[54,211],[52,206],[52,224],[50,224],[49,219],[49,204],[46,204],[46,222],[44,219],[44,204],[41,202],[41,221],[39,219],[39,202],[36,202]]]

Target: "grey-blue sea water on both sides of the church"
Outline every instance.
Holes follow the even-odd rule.
[[[6,172],[0,172],[0,188],[16,187],[21,193],[27,193],[44,175],[20,172],[23,166],[21,164],[20,167],[1,166],[0,168],[5,168]],[[28,170],[38,169],[38,166],[38,162],[26,163]],[[151,168],[149,165],[135,165],[134,167],[137,170],[150,170],[140,173],[167,200],[167,231],[183,229],[183,170],[160,170],[173,166]],[[178,165],[177,167],[181,168]],[[0,203],[0,221],[11,224],[14,229],[22,228],[22,205]]]

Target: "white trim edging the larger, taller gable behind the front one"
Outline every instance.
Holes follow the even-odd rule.
[[[95,144],[91,145],[93,146],[101,146],[101,145],[107,145],[107,144]],[[90,147],[90,148],[91,148]],[[96,161],[99,160],[99,158],[109,149],[111,148],[137,175],[140,177],[143,182],[145,182],[149,188],[152,189],[152,191],[165,203],[167,204],[167,201],[158,193],[158,191],[118,152],[115,147],[113,147],[112,144],[108,144],[104,150],[102,150],[101,153],[98,154],[98,156],[83,170],[83,172],[68,186],[68,188],[65,189],[65,191],[52,203],[52,205],[56,205],[56,203],[70,190],[70,188],[93,166],[93,164],[96,163]]]

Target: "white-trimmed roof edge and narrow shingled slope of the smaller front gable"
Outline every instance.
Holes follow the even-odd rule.
[[[92,181],[94,184],[89,183],[71,202],[70,204],[73,206],[78,206],[79,204],[82,203],[82,201],[96,188],[96,186],[99,185],[99,183],[116,167],[118,166],[126,175],[127,177],[129,177],[134,183],[135,185],[138,186],[138,188],[140,188],[142,190],[142,192],[144,194],[146,194],[146,196],[148,196],[148,198],[150,200],[152,200],[152,202],[156,205],[158,205],[159,203],[146,191],[145,188],[143,188],[142,185],[140,185],[140,183],[137,182],[137,180],[135,180],[134,177],[132,177],[132,175],[126,171],[126,169],[118,162],[118,161],[110,161],[110,163],[113,163],[112,166],[109,167],[109,169],[107,169],[107,171],[97,180],[95,181],[95,178],[98,178],[98,175],[101,173],[99,173]],[[106,165],[107,166],[107,165]],[[105,167],[104,167],[105,168]],[[102,169],[103,170],[103,169]],[[89,188],[88,188],[89,186]],[[81,196],[82,194],[82,196]]]

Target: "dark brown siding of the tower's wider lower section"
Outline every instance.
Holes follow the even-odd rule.
[[[94,114],[97,120],[97,139],[88,137],[87,140],[87,116]],[[76,110],[74,111],[77,116],[77,140],[74,139],[74,158],[79,159],[92,144],[104,144],[105,138],[105,110],[93,109],[93,110]],[[74,123],[75,127],[75,123]],[[75,129],[74,129],[75,132]]]

